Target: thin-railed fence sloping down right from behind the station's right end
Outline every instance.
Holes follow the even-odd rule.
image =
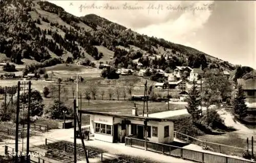
[[[200,145],[202,148],[207,147],[208,145],[210,145],[211,148],[214,149],[215,152],[219,152],[219,153],[225,153],[227,150],[227,148],[232,148],[233,150],[236,150],[237,153],[243,153],[245,151],[247,151],[247,149],[245,148],[239,148],[239,147],[234,147],[234,146],[228,146],[228,145],[223,145],[223,144],[218,144],[218,143],[212,143],[212,142],[207,142],[207,141],[202,141],[198,138],[174,131],[174,137],[181,139],[187,143],[194,143],[197,145]],[[249,150],[250,151],[250,150]]]

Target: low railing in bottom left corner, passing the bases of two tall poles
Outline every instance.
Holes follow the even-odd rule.
[[[9,149],[11,149],[11,150],[9,150]],[[30,151],[30,152],[34,152],[34,151]],[[15,155],[13,155],[13,153],[15,153],[15,149],[6,145],[5,146],[5,155],[15,156]],[[24,156],[23,152],[18,150],[18,157],[22,158],[23,156]],[[25,158],[26,158],[26,156],[25,156]],[[52,162],[50,162],[50,161],[48,161],[44,158],[41,158],[41,157],[38,157],[38,156],[35,156],[35,155],[33,155],[33,156],[29,155],[29,159],[30,159],[30,162],[33,162],[33,163],[40,163],[40,162],[42,162],[42,163],[52,163]]]

